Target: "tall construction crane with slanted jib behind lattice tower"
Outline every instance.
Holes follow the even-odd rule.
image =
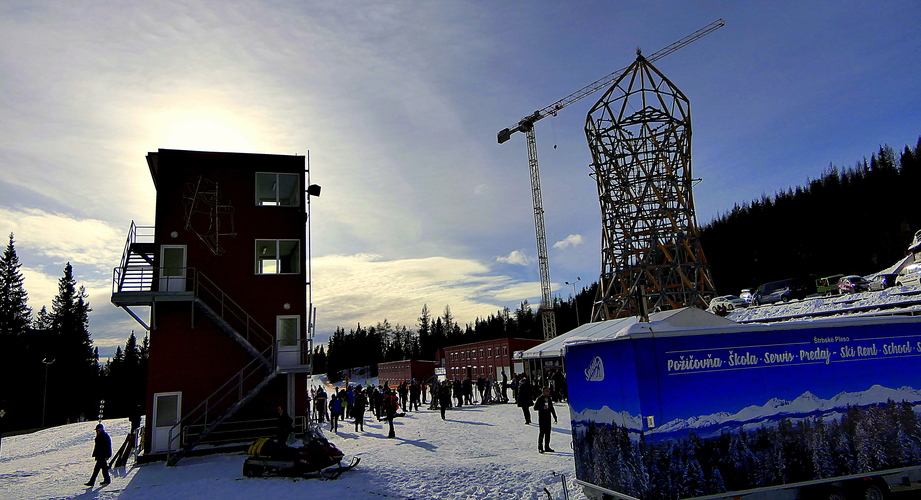
[[[655,62],[662,59],[672,52],[713,33],[725,25],[726,23],[722,19],[717,19],[681,40],[653,53],[647,57],[646,60]],[[504,128],[497,134],[499,144],[508,141],[515,132],[524,132],[528,142],[528,167],[531,172],[531,202],[534,207],[534,230],[537,233],[537,263],[540,268],[540,316],[541,323],[544,327],[545,340],[556,337],[556,316],[553,312],[553,298],[550,295],[550,259],[547,255],[547,234],[544,229],[544,205],[541,201],[540,170],[537,165],[537,138],[534,135],[534,124],[548,116],[556,116],[557,112],[566,106],[610,86],[617,81],[626,70],[627,68],[621,68],[596,80],[559,101],[522,118],[517,124]]]

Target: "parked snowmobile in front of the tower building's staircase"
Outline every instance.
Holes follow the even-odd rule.
[[[345,456],[339,448],[329,442],[313,425],[304,436],[304,445],[299,448],[279,444],[270,438],[256,440],[247,450],[243,462],[246,477],[287,476],[319,477],[336,479],[343,472],[351,470],[360,458],[353,458],[348,465],[342,464]]]

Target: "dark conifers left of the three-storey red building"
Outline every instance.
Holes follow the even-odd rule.
[[[0,431],[93,420],[100,406],[105,418],[137,411],[147,385],[147,337],[139,344],[132,332],[124,349],[100,364],[89,297],[70,263],[51,310],[34,314],[21,268],[10,233],[0,256]]]

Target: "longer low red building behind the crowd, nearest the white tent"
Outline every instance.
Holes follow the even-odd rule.
[[[456,345],[444,348],[445,376],[448,380],[469,377],[476,379],[480,375],[494,380],[502,380],[502,371],[511,380],[521,371],[513,364],[512,354],[541,344],[542,340],[505,338],[484,340],[472,344]],[[520,363],[519,363],[520,364]]]

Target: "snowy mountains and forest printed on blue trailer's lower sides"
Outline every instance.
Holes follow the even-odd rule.
[[[911,387],[874,385],[830,399],[805,392],[642,434],[640,416],[582,410],[572,414],[576,475],[654,500],[915,466],[921,464],[919,402],[921,391]]]

